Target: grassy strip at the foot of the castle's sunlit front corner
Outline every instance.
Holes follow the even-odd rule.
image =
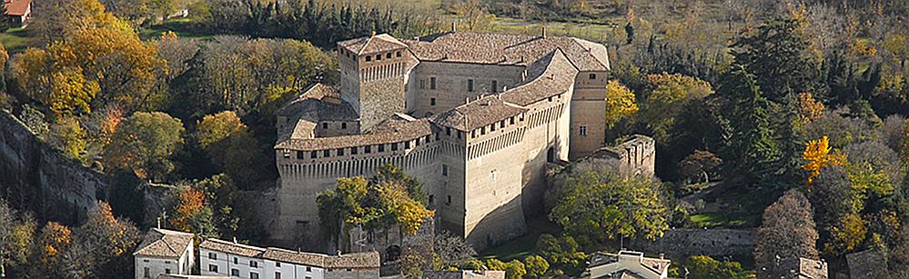
[[[553,224],[546,219],[546,216],[536,217],[527,221],[527,234],[511,240],[497,247],[492,247],[480,252],[481,259],[498,258],[507,262],[512,259],[521,259],[536,253],[537,239],[540,234],[561,234],[561,228],[558,224]]]

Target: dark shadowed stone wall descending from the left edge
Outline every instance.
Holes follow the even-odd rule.
[[[40,219],[75,224],[106,199],[107,178],[43,143],[0,111],[0,196]]]

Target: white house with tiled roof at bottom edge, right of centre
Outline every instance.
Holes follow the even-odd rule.
[[[597,253],[581,274],[584,279],[641,278],[665,279],[670,261],[644,257],[641,252],[620,251],[619,254]]]

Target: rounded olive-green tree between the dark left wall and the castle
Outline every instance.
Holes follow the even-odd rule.
[[[173,171],[169,158],[183,144],[183,124],[164,113],[136,113],[117,128],[104,152],[105,165],[160,180]]]

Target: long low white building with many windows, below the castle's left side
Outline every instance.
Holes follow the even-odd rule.
[[[379,278],[379,253],[332,256],[207,239],[199,244],[199,270],[249,279]]]

